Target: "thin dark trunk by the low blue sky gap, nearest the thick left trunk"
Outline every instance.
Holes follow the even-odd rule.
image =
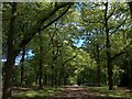
[[[22,59],[21,59],[21,86],[23,86],[24,81],[24,56],[25,56],[25,47],[22,50]]]

